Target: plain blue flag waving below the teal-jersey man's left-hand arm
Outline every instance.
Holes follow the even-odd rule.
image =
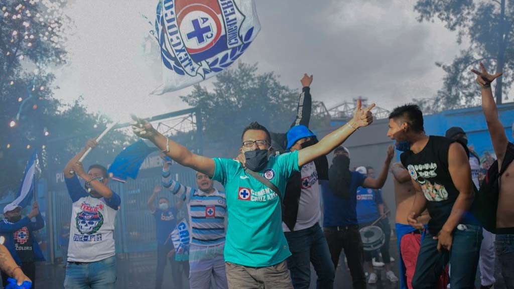
[[[111,166],[109,166],[109,176],[122,183],[126,182],[127,177],[136,179],[144,159],[157,150],[156,147],[146,145],[143,140],[134,142],[116,156]]]

